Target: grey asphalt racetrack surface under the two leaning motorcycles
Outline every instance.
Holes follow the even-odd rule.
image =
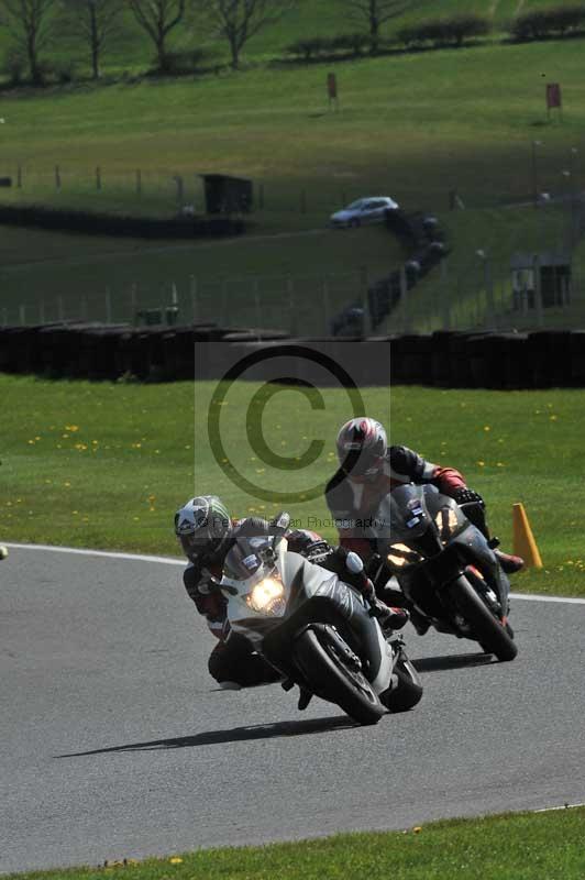
[[[585,801],[585,603],[516,600],[518,658],[410,626],[412,712],[217,690],[175,564],[0,565],[0,871]]]

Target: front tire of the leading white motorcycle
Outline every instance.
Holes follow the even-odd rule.
[[[295,642],[294,656],[311,690],[358,724],[377,724],[386,714],[363,672],[350,669],[324,634],[306,629]]]

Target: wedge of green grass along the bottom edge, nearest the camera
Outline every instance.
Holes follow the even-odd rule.
[[[452,820],[386,834],[208,849],[126,866],[11,875],[19,880],[582,880],[585,809]]]

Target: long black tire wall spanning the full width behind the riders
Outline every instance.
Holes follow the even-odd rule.
[[[216,324],[4,327],[0,328],[0,372],[110,382],[217,381],[247,354],[258,350],[274,354],[280,341],[322,352],[361,387],[585,387],[585,330],[440,331],[350,340],[289,339],[279,330],[234,330]],[[310,359],[290,356],[286,369],[294,382],[323,383]],[[269,381],[271,375],[261,362],[247,377]]]

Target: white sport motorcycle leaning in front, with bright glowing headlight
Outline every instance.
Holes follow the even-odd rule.
[[[282,673],[286,691],[299,685],[300,710],[317,695],[367,725],[415,706],[422,686],[401,637],[387,640],[364,596],[289,551],[283,531],[239,537],[229,550],[218,586],[231,630]]]

